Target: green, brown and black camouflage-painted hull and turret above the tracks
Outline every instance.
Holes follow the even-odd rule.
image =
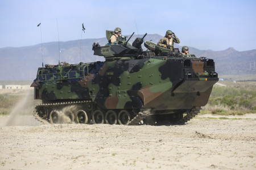
[[[175,113],[207,104],[218,81],[212,59],[150,56],[152,52],[130,45],[93,49],[106,61],[39,68],[31,85],[36,99],[44,103],[86,100],[106,110],[152,108]]]

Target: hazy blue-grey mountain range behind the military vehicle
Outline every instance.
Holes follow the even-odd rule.
[[[142,37],[143,35],[139,35]],[[133,42],[133,36],[129,42]],[[147,35],[144,40],[158,42],[162,36]],[[81,50],[80,50],[81,42]],[[47,42],[20,48],[0,48],[0,80],[34,80],[38,67],[43,63],[57,65],[60,62],[79,63],[104,61],[104,57],[93,56],[92,44],[98,42],[101,46],[107,43],[106,38],[83,39],[67,42]],[[58,45],[59,44],[59,45]],[[59,53],[60,46],[60,53]],[[179,44],[175,48],[181,50]],[[234,48],[222,51],[199,50],[189,46],[189,53],[197,57],[212,58],[215,61],[216,72],[219,75],[256,74],[256,50],[238,52]]]

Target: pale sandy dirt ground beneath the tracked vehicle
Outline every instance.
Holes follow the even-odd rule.
[[[0,117],[0,169],[256,169],[255,116],[174,126],[40,125],[32,116],[5,126]]]

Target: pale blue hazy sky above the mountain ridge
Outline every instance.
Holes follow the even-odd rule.
[[[255,0],[0,0],[0,48],[40,44],[39,23],[43,43],[58,41],[58,23],[60,41],[80,40],[81,34],[82,39],[105,37],[106,29],[115,27],[123,35],[164,36],[171,29],[180,45],[201,50],[256,49]]]

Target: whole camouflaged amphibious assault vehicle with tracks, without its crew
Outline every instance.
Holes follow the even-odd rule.
[[[110,31],[106,31],[107,39]],[[35,116],[43,122],[79,124],[184,124],[207,104],[218,81],[213,59],[180,55],[137,38],[93,44],[105,61],[39,67]],[[147,50],[142,49],[142,43]]]

